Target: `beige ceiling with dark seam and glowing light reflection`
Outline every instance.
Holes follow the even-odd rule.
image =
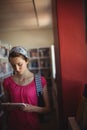
[[[0,0],[0,31],[52,28],[51,0]]]

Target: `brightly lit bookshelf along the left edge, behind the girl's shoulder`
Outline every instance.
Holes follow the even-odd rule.
[[[8,62],[10,44],[0,40],[0,102],[3,100],[3,79],[12,74],[12,67]],[[5,111],[0,107],[0,129],[5,130]]]

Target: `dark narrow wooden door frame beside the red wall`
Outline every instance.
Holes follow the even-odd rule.
[[[65,130],[65,116],[63,107],[62,94],[62,76],[61,76],[61,61],[60,61],[60,39],[58,34],[58,0],[52,0],[52,16],[53,16],[53,33],[54,33],[54,49],[56,62],[56,85],[57,85],[57,103],[58,103],[58,129]]]

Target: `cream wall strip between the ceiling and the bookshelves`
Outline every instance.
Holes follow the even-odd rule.
[[[7,41],[12,46],[21,45],[27,49],[46,47],[54,43],[52,29],[0,32],[0,40]]]

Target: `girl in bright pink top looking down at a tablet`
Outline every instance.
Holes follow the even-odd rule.
[[[27,67],[27,51],[20,46],[13,47],[8,59],[14,74],[3,81],[6,101],[25,104],[9,110],[8,130],[40,130],[38,114],[50,110],[46,80],[41,77],[45,106],[39,107],[34,74]]]

